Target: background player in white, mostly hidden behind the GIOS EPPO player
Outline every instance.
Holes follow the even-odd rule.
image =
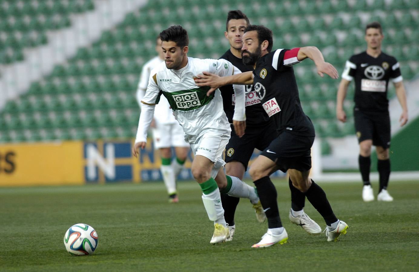
[[[145,95],[145,90],[147,90],[151,70],[164,61],[160,36],[156,38],[155,49],[158,56],[155,56],[144,64],[140,75],[140,81],[138,82],[136,98],[140,108],[141,100]],[[190,146],[189,143],[185,141],[183,129],[173,116],[170,105],[164,97],[160,98],[160,102],[155,106],[151,127],[153,128],[154,148],[158,149],[160,153],[160,171],[169,195],[169,202],[177,203],[179,198],[176,190],[176,177],[183,168]],[[175,148],[176,153],[176,158],[173,160],[171,152],[172,146]]]

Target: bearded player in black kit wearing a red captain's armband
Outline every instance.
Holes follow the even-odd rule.
[[[308,175],[311,168],[310,148],[314,141],[314,127],[304,114],[298,96],[297,82],[292,65],[305,58],[312,59],[317,72],[338,78],[336,69],[324,61],[321,52],[313,46],[292,50],[272,51],[272,31],[264,26],[250,25],[243,34],[243,63],[254,67],[230,77],[217,77],[204,72],[198,85],[207,85],[209,92],[227,84],[252,84],[259,95],[266,114],[273,119],[278,136],[253,162],[250,175],[268,218],[268,231],[252,247],[267,247],[287,242],[288,234],[282,226],[277,204],[277,190],[269,175],[280,169],[288,171],[292,185],[303,192],[308,201],[326,221],[328,241],[337,241],[347,232],[348,225],[336,218],[326,194]]]

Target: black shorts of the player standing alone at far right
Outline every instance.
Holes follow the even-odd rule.
[[[384,149],[390,147],[391,128],[388,112],[365,112],[355,109],[354,121],[358,143],[372,140],[375,146],[382,146]]]

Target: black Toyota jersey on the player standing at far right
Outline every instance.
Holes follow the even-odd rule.
[[[400,65],[383,52],[374,58],[362,52],[346,62],[342,78],[355,79],[355,108],[363,111],[388,111],[388,81],[403,80]]]

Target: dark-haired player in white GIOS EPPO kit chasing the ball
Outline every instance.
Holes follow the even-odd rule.
[[[194,77],[203,71],[227,76],[239,73],[240,70],[224,59],[189,58],[189,38],[181,26],[171,26],[162,31],[160,38],[165,63],[153,69],[150,74],[147,91],[141,100],[142,113],[132,153],[137,157],[138,149],[145,147],[147,129],[153,119],[155,104],[159,103],[163,94],[194,153],[192,175],[202,189],[205,210],[215,226],[210,243],[220,243],[229,235],[220,190],[231,196],[249,198],[255,204],[259,203],[259,197],[253,187],[237,177],[225,176],[222,152],[230,139],[231,128],[223,110],[221,94],[217,90],[207,96],[209,87],[198,87]],[[234,87],[236,106],[233,126],[238,136],[243,136],[246,128],[245,90],[241,85]],[[261,209],[261,205],[259,206]],[[263,213],[263,210],[261,212]]]

